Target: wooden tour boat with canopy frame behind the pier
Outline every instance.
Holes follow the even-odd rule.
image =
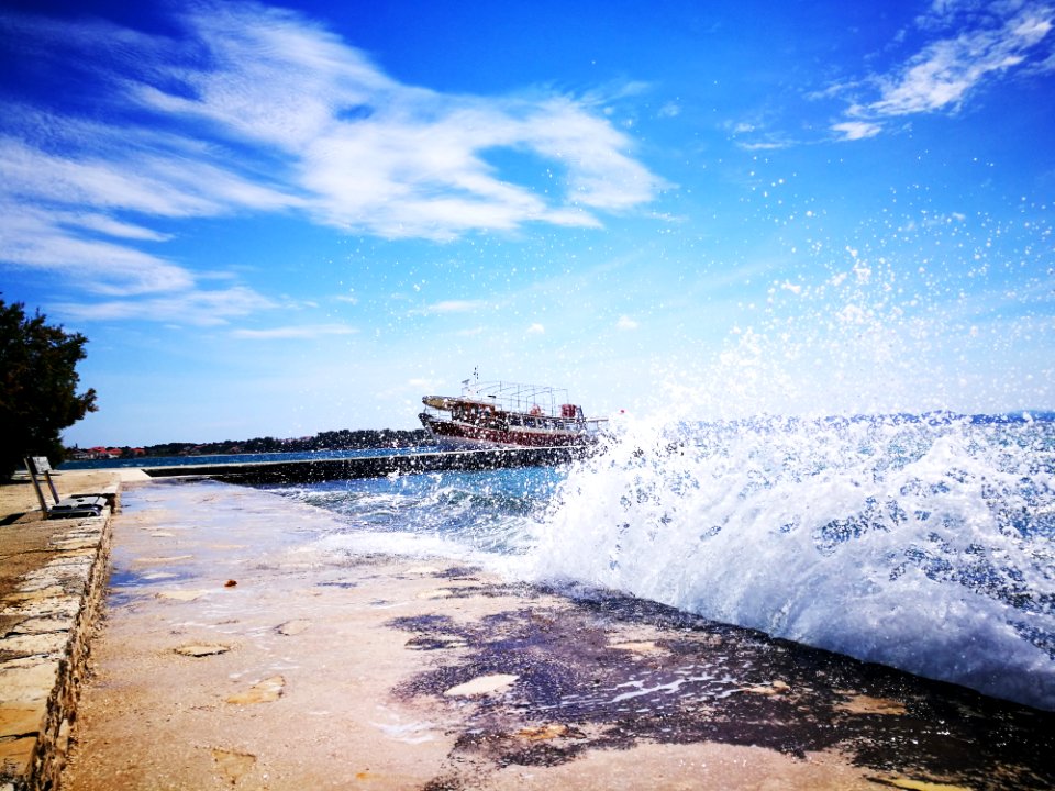
[[[465,379],[460,396],[425,396],[421,424],[442,445],[565,447],[604,435],[603,417],[586,417],[567,390],[546,385]]]

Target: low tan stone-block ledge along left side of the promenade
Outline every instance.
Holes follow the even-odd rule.
[[[112,511],[63,520],[40,550],[46,560],[0,598],[0,791],[58,783],[106,592]]]

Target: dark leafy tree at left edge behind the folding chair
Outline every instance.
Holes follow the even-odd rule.
[[[96,411],[96,391],[77,394],[77,364],[86,338],[47,324],[21,302],[0,299],[0,477],[9,478],[24,456],[62,463],[59,432]]]

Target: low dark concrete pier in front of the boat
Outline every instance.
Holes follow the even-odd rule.
[[[153,478],[173,476],[214,478],[229,483],[314,483],[351,478],[380,478],[444,470],[492,470],[506,467],[543,467],[584,458],[595,448],[485,448],[433,453],[319,458],[298,461],[247,461],[145,467]]]

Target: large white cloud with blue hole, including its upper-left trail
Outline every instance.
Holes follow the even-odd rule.
[[[213,55],[212,68],[170,69],[180,90],[144,80],[132,96],[281,149],[292,187],[304,190],[320,222],[436,239],[525,222],[596,225],[584,208],[629,209],[662,186],[624,153],[632,141],[586,101],[484,100],[404,86],[285,11],[235,4],[187,19]],[[500,147],[554,160],[564,170],[563,193],[554,199],[503,179],[481,157]]]

